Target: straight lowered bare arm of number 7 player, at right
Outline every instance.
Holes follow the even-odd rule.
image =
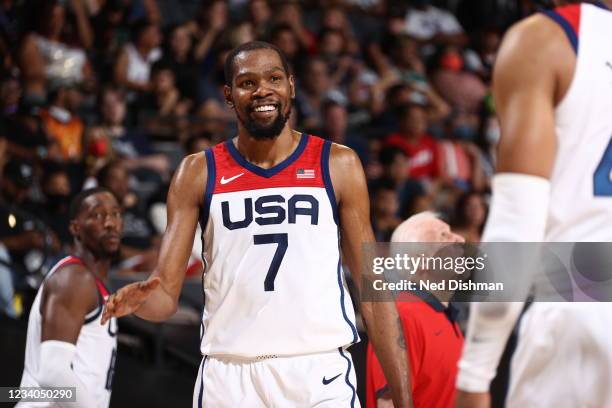
[[[342,252],[361,298],[362,245],[374,242],[365,174],[355,152],[339,145],[332,145],[330,172],[338,201]],[[361,301],[361,313],[394,406],[412,407],[408,357],[395,303]]]

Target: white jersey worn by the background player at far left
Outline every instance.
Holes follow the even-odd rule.
[[[59,261],[49,274],[58,269],[82,264],[79,258],[69,256]],[[85,316],[85,322],[76,343],[76,356],[72,362],[75,375],[87,388],[89,394],[97,402],[95,408],[107,408],[110,402],[112,378],[117,355],[117,319],[111,318],[104,326],[100,324],[104,299],[108,291],[102,281],[96,278],[99,294],[99,305],[94,311]],[[26,340],[25,366],[21,377],[21,387],[39,387],[36,378],[40,366],[41,321],[40,302],[44,282],[41,285],[28,319],[28,334]],[[78,398],[78,396],[77,396]],[[19,403],[18,407],[53,407],[54,403]]]

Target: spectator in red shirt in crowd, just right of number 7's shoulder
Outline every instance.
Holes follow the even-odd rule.
[[[408,177],[432,179],[439,174],[436,141],[427,134],[427,110],[409,103],[398,112],[399,131],[385,138],[385,145],[396,146],[409,159]]]

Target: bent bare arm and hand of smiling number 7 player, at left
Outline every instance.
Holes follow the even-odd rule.
[[[157,266],[147,281],[127,285],[109,298],[103,323],[111,316],[131,313],[142,319],[162,321],[176,312],[204,199],[206,177],[203,154],[183,159],[168,191],[168,224]]]

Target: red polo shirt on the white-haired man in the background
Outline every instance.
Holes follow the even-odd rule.
[[[412,292],[410,301],[397,302],[404,329],[415,408],[446,408],[455,404],[457,363],[463,335],[455,322],[456,309],[445,307],[432,294]],[[366,407],[388,391],[387,380],[372,345],[368,345]]]

